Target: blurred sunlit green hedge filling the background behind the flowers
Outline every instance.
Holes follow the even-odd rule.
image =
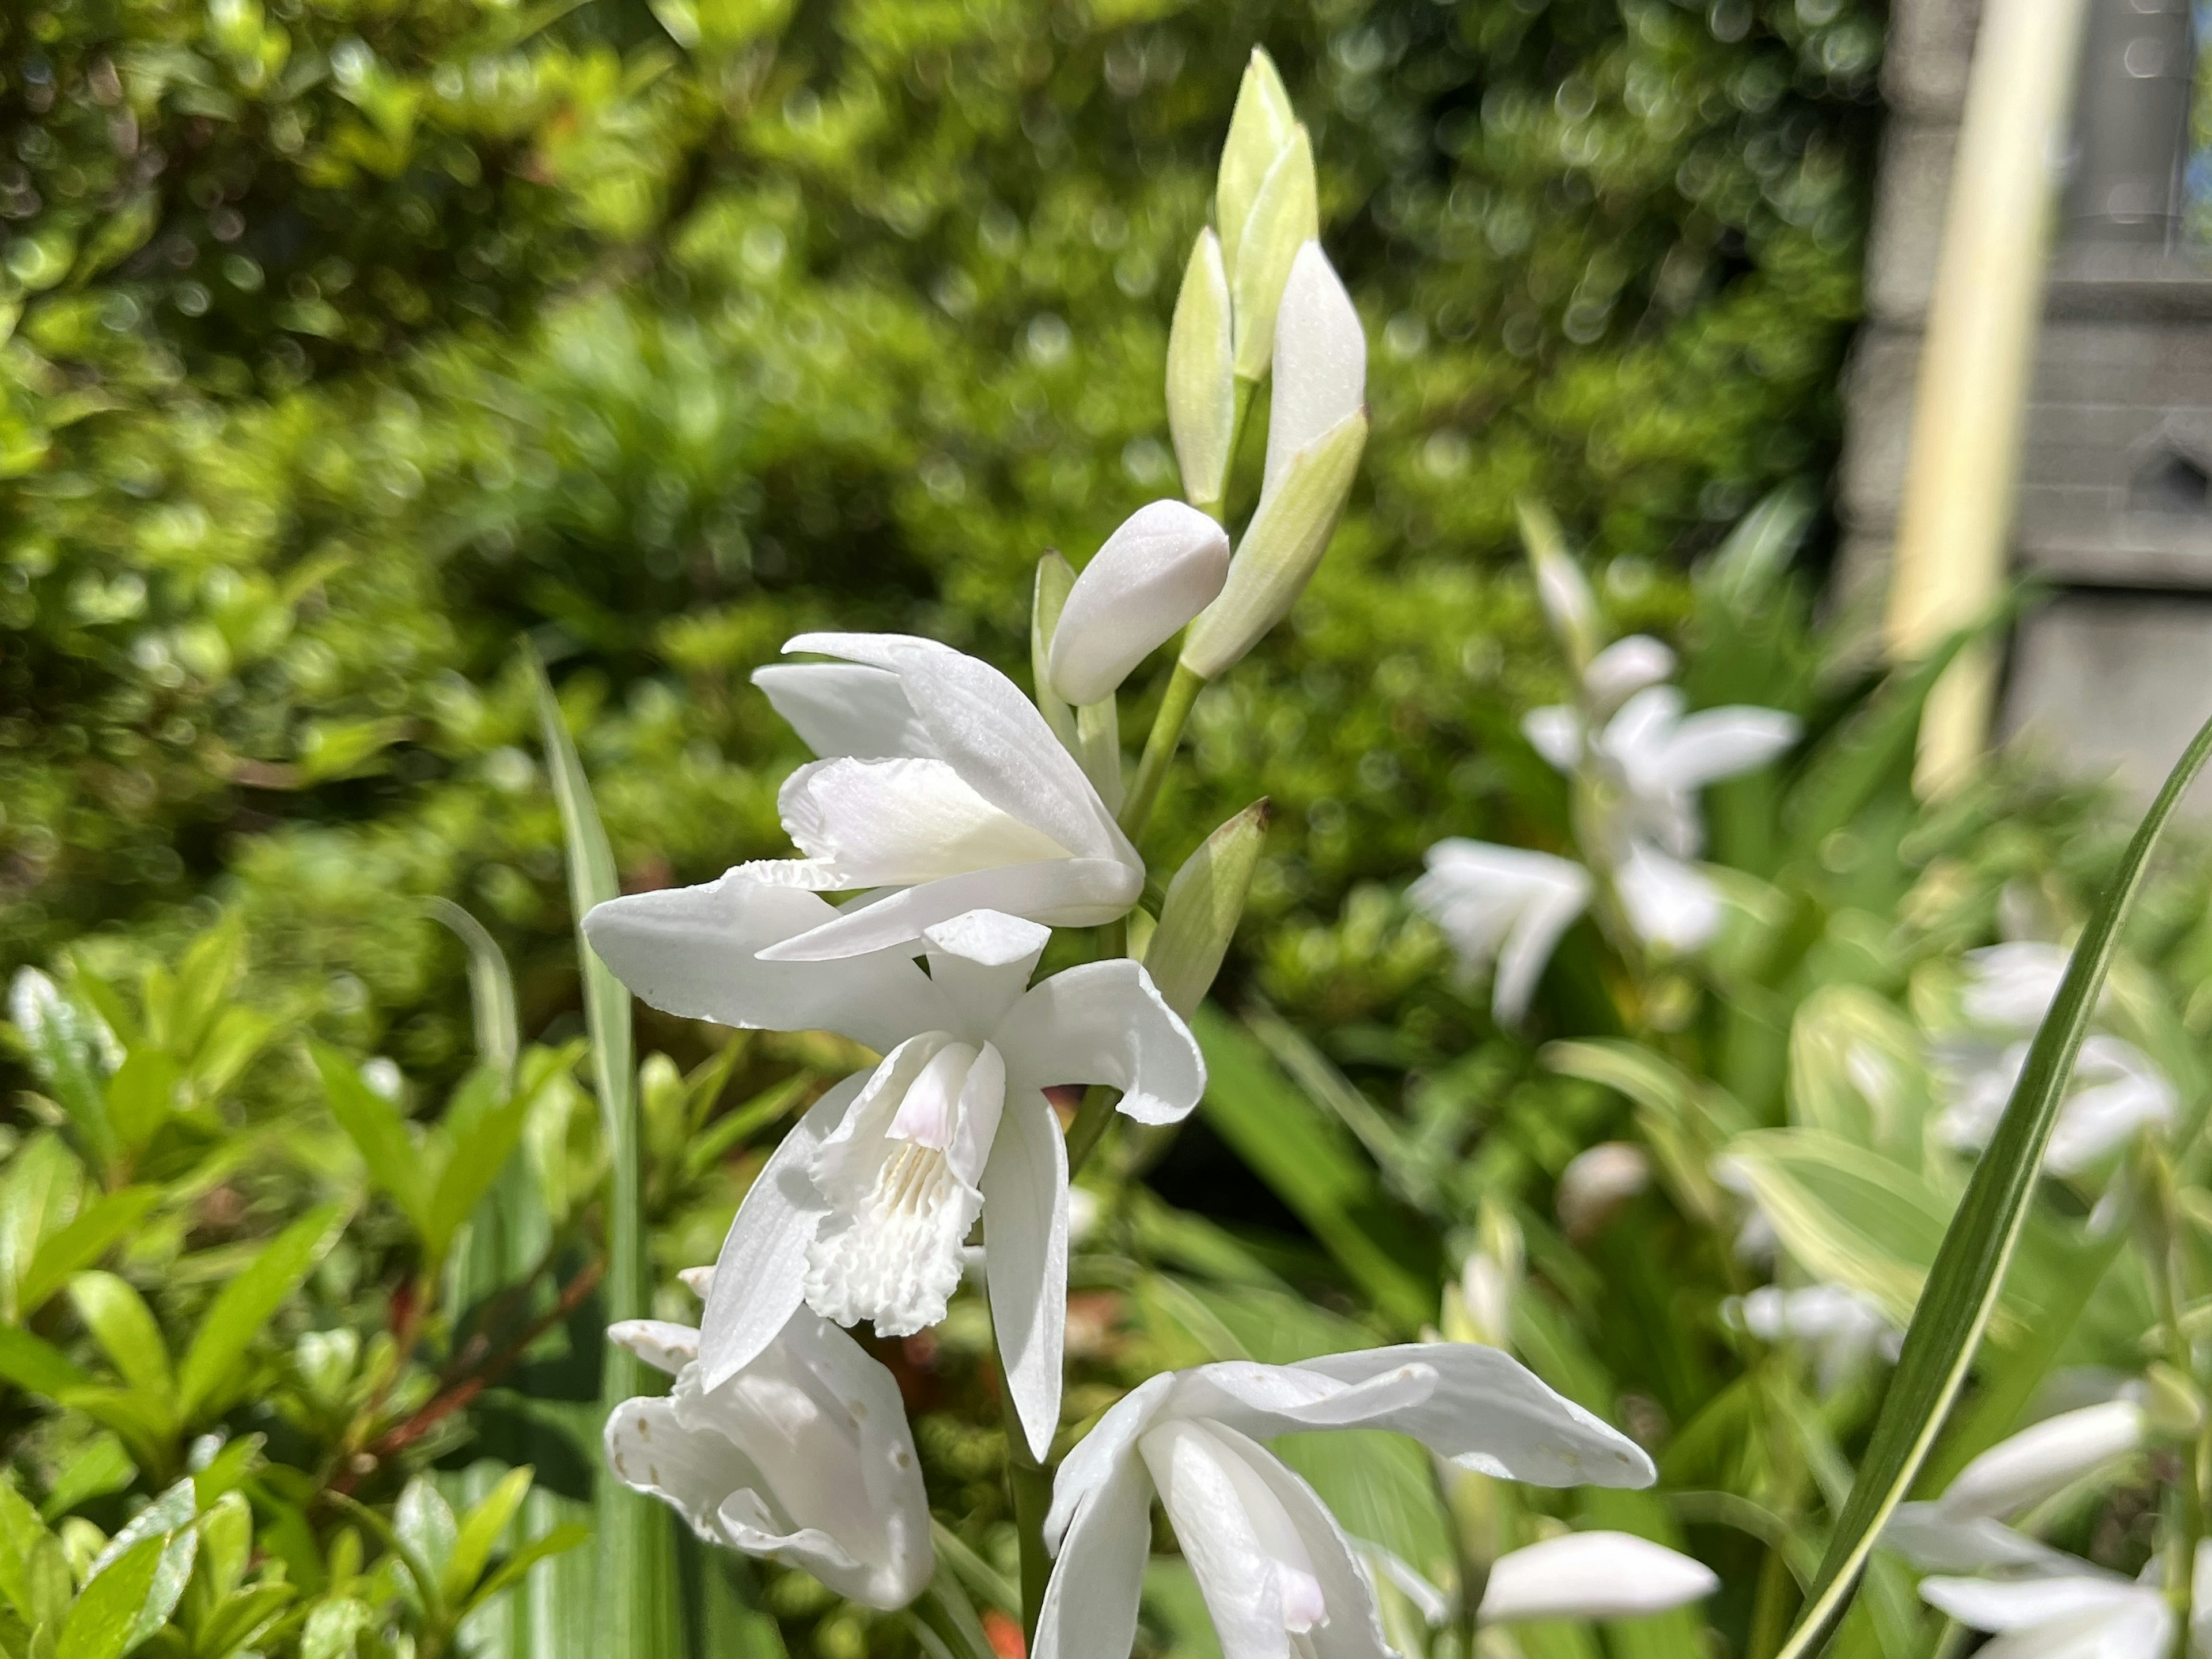
[[[573,1006],[515,639],[628,885],[779,843],[796,750],[745,672],[787,633],[1015,664],[1040,546],[1172,493],[1166,319],[1254,42],[1316,131],[1376,436],[1157,845],[1272,792],[1270,925],[1498,830],[1480,739],[1551,672],[1513,495],[1666,624],[1681,557],[1825,462],[1860,0],[33,0],[0,967],[215,896],[254,998],[451,1075],[460,953],[394,902],[447,894]]]

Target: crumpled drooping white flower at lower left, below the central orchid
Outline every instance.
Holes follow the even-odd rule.
[[[608,1338],[675,1376],[606,1420],[606,1462],[708,1544],[796,1566],[872,1608],[902,1608],[936,1571],[929,1493],[891,1374],[801,1310],[719,1385],[699,1332],[657,1318]]]

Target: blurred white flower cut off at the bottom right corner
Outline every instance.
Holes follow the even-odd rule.
[[[1993,1632],[1997,1639],[1980,1648],[1984,1659],[2150,1659],[2174,1646],[2174,1608],[2157,1568],[2152,1559],[2143,1577],[2128,1579],[2046,1551],[2022,1575],[1920,1579],[1920,1597],[1973,1630]],[[2194,1606],[2205,1608],[2212,1546],[2197,1546],[2190,1577]],[[2188,1652],[2212,1655],[2212,1628],[2201,1613]]]

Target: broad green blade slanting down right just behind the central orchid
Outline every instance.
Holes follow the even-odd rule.
[[[1206,1121],[1394,1325],[1420,1329],[1436,1316],[1433,1263],[1422,1261],[1433,1245],[1418,1241],[1389,1208],[1374,1166],[1234,1020],[1199,1006],[1190,1029],[1206,1051]]]

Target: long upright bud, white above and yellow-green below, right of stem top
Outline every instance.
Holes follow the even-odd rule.
[[[1192,624],[1183,666],[1214,679],[1305,593],[1367,445],[1367,336],[1321,243],[1298,250],[1274,354],[1267,476],[1228,586]]]

